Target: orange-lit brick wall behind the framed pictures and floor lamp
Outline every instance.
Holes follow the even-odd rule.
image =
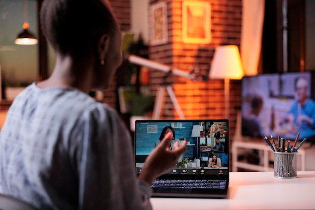
[[[151,60],[172,65],[183,71],[197,66],[207,73],[215,47],[233,44],[240,47],[242,0],[211,0],[211,43],[185,44],[182,42],[182,0],[150,1],[150,4],[167,2],[168,43],[150,46]],[[151,88],[156,91],[164,73],[150,71]],[[173,89],[186,119],[224,118],[224,81],[193,82],[186,78],[171,76]],[[235,128],[240,107],[241,82],[230,81],[230,136]],[[171,99],[167,96],[163,119],[179,118]]]

